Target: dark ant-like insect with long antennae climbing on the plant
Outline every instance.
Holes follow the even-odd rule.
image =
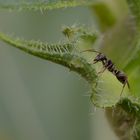
[[[114,74],[116,76],[116,78],[119,80],[119,82],[121,82],[123,84],[120,96],[122,95],[124,87],[126,85],[130,89],[130,85],[129,85],[126,74],[123,71],[118,70],[110,59],[108,59],[103,53],[95,51],[93,49],[84,50],[82,52],[86,52],[86,51],[98,53],[97,56],[93,60],[93,64],[95,64],[97,62],[101,62],[103,64],[103,70],[101,70],[98,73],[103,73],[107,69],[108,71],[110,71],[112,74]]]

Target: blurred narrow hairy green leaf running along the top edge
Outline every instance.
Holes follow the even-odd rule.
[[[0,9],[5,10],[52,10],[59,8],[68,8],[68,7],[76,7],[76,6],[88,6],[91,4],[91,1],[84,0],[57,0],[57,1],[38,1],[38,2],[0,2]]]

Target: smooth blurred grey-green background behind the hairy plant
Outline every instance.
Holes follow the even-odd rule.
[[[95,25],[86,7],[0,12],[0,31],[24,39],[63,40],[63,25]],[[87,83],[57,64],[0,43],[0,140],[117,140]]]

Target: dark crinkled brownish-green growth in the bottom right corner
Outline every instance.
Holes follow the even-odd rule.
[[[113,108],[106,108],[106,115],[120,139],[139,140],[140,105],[138,99],[123,98]]]

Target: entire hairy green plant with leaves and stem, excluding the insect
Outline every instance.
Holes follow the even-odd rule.
[[[107,118],[120,139],[140,139],[140,104],[139,104],[139,22],[140,1],[126,0],[123,10],[115,10],[108,3],[72,0],[55,2],[24,2],[18,4],[0,3],[3,10],[53,10],[75,6],[88,6],[96,14],[99,31],[92,27],[73,25],[63,27],[65,41],[56,44],[41,41],[26,41],[0,33],[0,40],[26,53],[58,63],[77,72],[89,83],[91,101],[97,107],[106,110]],[[119,13],[119,11],[121,11]],[[104,34],[104,39],[101,40]],[[99,40],[100,49],[115,62],[117,68],[124,70],[131,85],[131,92],[125,88],[120,97],[122,85],[108,72],[98,77],[95,65],[89,62],[93,54],[81,53],[86,48],[95,48]],[[103,45],[103,47],[100,47]],[[100,83],[100,79],[104,80]],[[102,88],[102,90],[100,90]],[[112,115],[115,114],[115,115]]]

